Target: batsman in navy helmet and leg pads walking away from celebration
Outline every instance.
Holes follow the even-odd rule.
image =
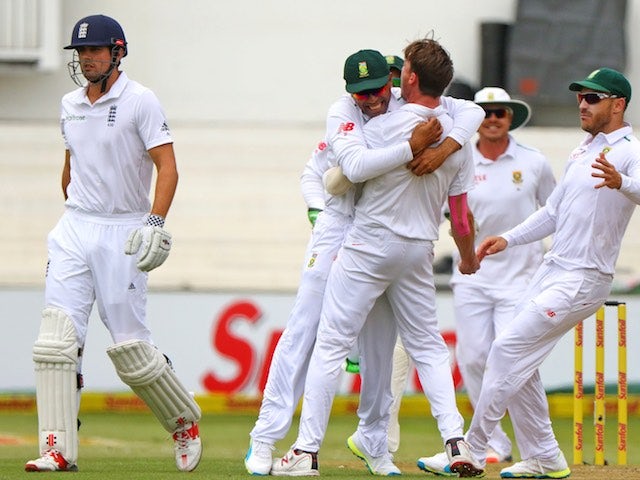
[[[62,98],[65,212],[48,237],[46,306],[33,347],[40,457],[25,470],[77,470],[82,356],[95,302],[115,342],[107,353],[118,375],[173,436],[178,469],[191,471],[202,451],[200,408],[145,318],[147,272],[171,248],[163,227],[178,172],[169,127],[156,96],[120,70],[128,46],[117,21],[80,19],[65,49],[74,51],[69,69],[80,88]]]

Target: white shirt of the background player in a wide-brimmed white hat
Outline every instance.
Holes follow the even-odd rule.
[[[476,243],[500,235],[518,225],[546,203],[555,187],[549,162],[538,150],[521,145],[509,136],[507,150],[496,160],[485,158],[473,144],[475,187],[467,203],[476,224]],[[540,265],[541,242],[510,248],[482,261],[473,275],[454,268],[451,285],[467,284],[489,288],[524,288]],[[454,265],[460,256],[453,253]]]

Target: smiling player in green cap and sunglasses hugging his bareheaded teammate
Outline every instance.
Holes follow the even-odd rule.
[[[405,168],[404,165],[414,157],[414,152],[417,153],[421,147],[440,137],[439,127],[435,130],[435,135],[429,133],[437,123],[432,121],[421,126],[425,129],[422,133],[416,131],[426,135],[420,140],[421,143],[417,143],[418,139],[414,135],[409,143],[402,139],[391,147],[368,150],[362,133],[363,125],[387,110],[397,109],[400,103],[399,91],[390,88],[389,67],[385,58],[374,50],[361,50],[349,56],[344,65],[344,78],[349,94],[341,97],[330,108],[327,140],[314,151],[302,175],[305,201],[310,209],[314,209],[314,215],[321,213],[315,218],[296,302],[274,353],[260,414],[251,432],[251,446],[245,465],[254,474],[269,473],[273,445],[284,438],[291,425],[295,407],[302,395],[309,357],[315,342],[329,269],[353,219],[354,200],[359,187],[353,186],[340,175],[335,175],[329,182],[334,194],[325,196],[323,176],[327,176],[328,168],[335,166],[338,158],[347,156],[361,158],[364,163],[371,165],[395,162]],[[442,163],[452,151],[459,149],[473,135],[477,122],[480,121],[477,115],[479,109],[470,102],[450,100],[452,109],[456,111],[456,128],[441,147],[428,149],[428,152],[416,157],[414,160],[417,165],[420,165],[420,159],[430,165],[434,162]],[[348,132],[348,135],[341,135],[339,132]],[[336,133],[340,137],[338,142],[335,141]],[[367,391],[367,385],[371,390],[379,392],[380,387],[374,385],[389,384],[391,352],[380,352],[376,338],[379,335],[385,338],[395,337],[395,325],[389,321],[391,316],[386,299],[382,297],[370,315],[371,328],[363,329],[360,335],[359,342],[363,344],[363,349],[368,348],[364,344],[371,344],[374,348],[377,346],[380,353],[371,356],[368,363],[365,362],[362,366],[363,392]],[[292,362],[292,358],[295,361]],[[366,437],[375,444],[367,445],[366,451],[373,452],[370,469],[378,474],[397,473],[399,470],[386,450],[390,393],[376,395],[375,392],[371,396],[365,394],[361,400],[361,422],[358,428],[366,431]],[[306,462],[307,471],[317,472],[317,462],[311,455],[300,460]]]

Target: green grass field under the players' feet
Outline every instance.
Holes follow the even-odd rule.
[[[185,475],[173,463],[172,442],[151,414],[99,414],[81,415],[80,459],[81,475],[87,480],[153,479],[163,480]],[[254,415],[207,414],[200,424],[204,454],[200,466],[189,478],[247,479],[243,458],[248,445],[248,434],[255,422]],[[395,456],[405,478],[437,478],[416,467],[420,456],[431,455],[441,448],[441,440],[431,417],[402,417],[402,443]],[[371,479],[363,463],[345,447],[345,441],[356,426],[355,417],[337,415],[331,418],[325,442],[320,451],[320,472],[323,477],[344,479]],[[505,427],[511,433],[507,421]],[[572,460],[571,420],[554,420],[554,429],[567,460]],[[593,429],[585,423],[585,460],[593,459]],[[606,457],[616,462],[616,422],[607,424]],[[33,414],[0,414],[0,480],[33,478],[24,472],[26,460],[34,458],[37,418]],[[277,445],[275,454],[283,454],[293,442],[297,432],[297,418],[289,436]],[[513,438],[513,437],[512,437]],[[517,455],[517,453],[516,453]],[[573,479],[640,479],[640,418],[629,422],[629,467],[617,468],[578,466],[573,468]],[[490,466],[487,478],[499,478],[500,467]],[[57,474],[64,475],[64,474]]]

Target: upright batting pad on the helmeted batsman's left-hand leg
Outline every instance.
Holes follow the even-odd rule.
[[[69,463],[78,460],[78,343],[66,313],[42,311],[33,345],[40,453],[60,451]]]

